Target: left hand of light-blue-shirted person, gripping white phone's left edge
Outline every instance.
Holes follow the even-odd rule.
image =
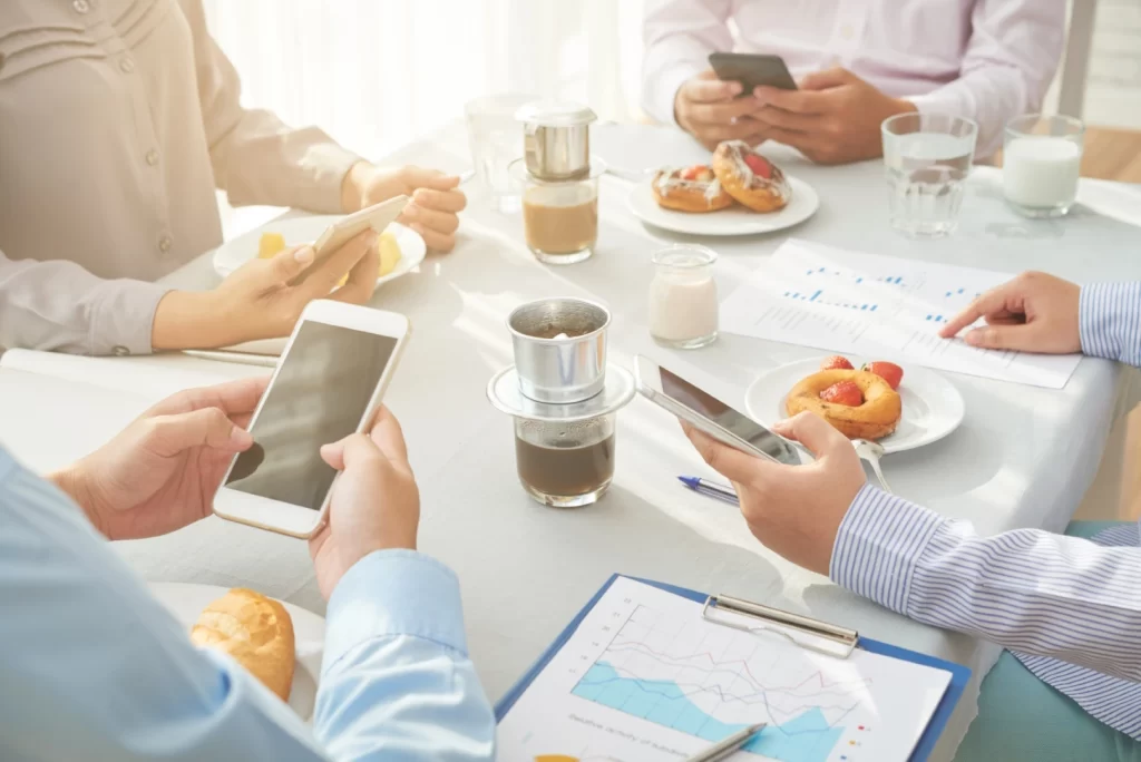
[[[143,413],[115,438],[49,478],[108,540],[138,540],[208,516],[269,378],[189,389]]]

